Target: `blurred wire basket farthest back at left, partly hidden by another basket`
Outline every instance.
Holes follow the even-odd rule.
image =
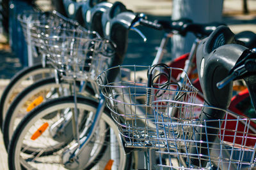
[[[38,34],[38,28],[35,27],[35,23],[39,25],[45,25],[48,28],[60,28],[85,30],[79,24],[68,18],[65,18],[57,11],[24,11],[18,15],[18,20],[22,26],[22,32],[26,39],[28,46],[31,46],[31,53],[34,57],[38,57],[38,46],[41,45],[41,34]],[[45,29],[46,30],[46,29]],[[56,30],[56,29],[55,29]],[[53,33],[53,32],[52,32]],[[56,32],[54,32],[56,34]]]

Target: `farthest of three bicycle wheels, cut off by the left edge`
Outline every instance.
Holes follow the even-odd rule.
[[[52,76],[53,71],[54,69],[49,65],[43,67],[42,64],[36,64],[35,66],[22,69],[13,76],[10,83],[4,89],[0,99],[0,127],[3,125],[6,111],[15,96],[35,81]]]

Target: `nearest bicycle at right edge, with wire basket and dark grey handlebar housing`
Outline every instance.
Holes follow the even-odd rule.
[[[169,146],[165,151],[159,150],[159,154],[163,155],[162,158],[168,159],[168,164],[160,163],[162,168],[242,169],[253,167],[255,152],[255,148],[253,149],[255,144],[253,120],[255,114],[253,115],[252,112],[248,114],[250,112],[232,113],[227,111],[232,97],[232,83],[230,83],[230,80],[232,80],[232,76],[237,76],[233,74],[224,80],[228,81],[225,89],[218,90],[215,87],[218,81],[232,73],[232,70],[234,70],[231,69],[232,65],[243,62],[241,60],[244,60],[244,57],[255,56],[255,53],[248,52],[249,50],[244,50],[245,47],[242,48],[238,45],[227,45],[226,48],[218,48],[218,46],[228,43],[235,43],[234,37],[234,34],[227,27],[220,27],[198,46],[196,64],[200,84],[205,95],[205,104],[186,103],[186,101],[182,103],[175,100],[157,101],[158,103],[167,103],[167,106],[159,104],[155,108],[156,115],[159,117],[157,124],[165,128],[159,129],[159,132],[164,133],[165,136],[159,134],[157,138],[159,138],[160,143]],[[234,52],[235,50],[236,52]],[[212,58],[210,59],[210,57]],[[225,74],[223,75],[223,73]],[[240,74],[239,71],[236,73]],[[246,85],[250,90],[250,83],[253,80],[251,78],[248,81]],[[218,85],[221,85],[221,83]],[[253,94],[250,94],[252,97]],[[180,115],[180,117],[169,117],[166,122],[160,120],[161,117],[166,115],[164,110],[166,107],[180,106],[180,104],[184,104],[184,107],[181,107],[182,109],[192,108],[188,117]],[[196,119],[193,115],[196,108],[203,110],[199,119]],[[170,132],[166,131],[168,128],[175,129],[180,136],[175,136],[173,133],[174,137],[171,138],[171,136],[168,136]],[[172,157],[177,157],[177,160],[179,160],[179,163],[175,166],[175,159],[172,160]]]

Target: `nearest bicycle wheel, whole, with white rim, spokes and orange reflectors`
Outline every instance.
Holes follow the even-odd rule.
[[[22,122],[17,127],[19,130],[14,132],[8,149],[10,169],[22,169],[24,167],[26,169],[43,169],[47,167],[65,169],[61,164],[61,155],[74,141],[67,140],[68,142],[66,141],[65,145],[63,145],[63,143],[52,139],[50,129],[52,124],[58,120],[58,115],[51,120],[45,120],[44,117],[53,112],[63,113],[63,110],[67,110],[67,108],[74,108],[74,96],[46,101],[22,119]],[[97,110],[97,102],[84,97],[77,97],[77,108],[79,117],[81,115],[84,117],[83,119],[79,118],[79,120],[85,120],[80,121],[79,124],[90,125],[90,117]],[[48,124],[47,129],[40,134],[40,137],[31,140],[31,136],[35,134],[36,129],[38,130],[38,127],[42,127],[42,124],[44,125],[45,123]],[[86,160],[87,164],[84,169],[104,169],[109,161],[112,162],[112,160],[112,169],[128,169],[131,166],[131,157],[125,155],[122,142],[118,137],[116,124],[106,109],[100,118],[98,129],[92,140],[93,149],[91,153],[88,153],[90,154],[90,159]],[[51,149],[52,154],[49,155]]]

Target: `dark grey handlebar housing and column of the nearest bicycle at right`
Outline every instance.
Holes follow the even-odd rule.
[[[204,93],[206,106],[214,106],[227,110],[232,99],[233,83],[232,81],[227,81],[222,89],[218,89],[217,83],[227,78],[234,69],[234,66],[237,66],[237,63],[248,56],[248,53],[250,53],[250,50],[243,45],[237,44],[235,34],[227,26],[217,27],[209,37],[200,42],[196,50],[196,67],[198,69],[198,77]],[[249,80],[249,82],[254,83],[256,80],[255,76],[249,78],[253,79],[252,81]],[[251,88],[254,92],[255,87],[256,85],[254,83]],[[250,90],[250,87],[248,89]],[[200,120],[207,128],[200,129],[199,126],[196,127],[195,131],[202,131],[194,136],[195,141],[204,141],[200,145],[202,150],[198,151],[199,148],[196,146],[196,143],[192,143],[189,153],[204,154],[208,152],[207,148],[211,147],[211,143],[217,137],[214,135],[206,136],[205,134],[219,134],[218,129],[220,124],[207,120],[223,119],[225,113],[226,111],[216,110],[210,107],[202,108]],[[207,165],[207,160],[204,159],[191,159],[191,162],[196,166],[202,165],[205,167]]]

